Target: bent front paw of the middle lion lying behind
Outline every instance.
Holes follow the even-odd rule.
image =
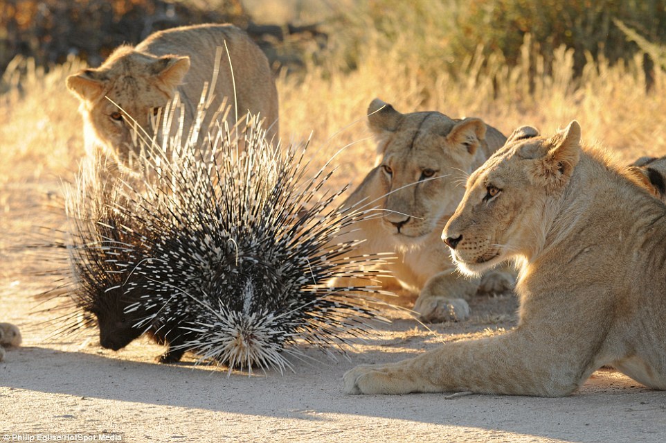
[[[424,322],[460,321],[469,317],[465,298],[476,294],[478,278],[463,277],[455,269],[445,270],[426,281],[413,310]]]

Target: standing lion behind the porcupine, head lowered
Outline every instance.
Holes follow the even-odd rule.
[[[219,60],[217,48],[223,50]],[[66,85],[80,100],[87,151],[101,148],[118,164],[127,164],[136,155],[134,121],[149,130],[156,124],[154,116],[163,114],[178,94],[183,128],[190,128],[206,82],[212,90],[204,132],[224,112],[230,127],[250,112],[264,119],[267,137],[279,134],[278,92],[269,62],[244,31],[230,24],[156,32],[134,47],[118,47],[100,67],[69,76]],[[172,130],[179,118],[173,119]]]

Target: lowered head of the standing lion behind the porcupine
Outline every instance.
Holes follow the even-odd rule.
[[[86,128],[108,155],[125,162],[132,152],[134,121],[147,130],[150,116],[176,94],[190,69],[190,59],[154,55],[120,46],[102,66],[67,78],[81,102]]]

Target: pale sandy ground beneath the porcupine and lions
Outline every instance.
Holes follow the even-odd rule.
[[[40,254],[17,245],[36,225],[57,226],[44,211],[56,180],[0,186],[0,321],[24,333],[24,345],[0,363],[0,439],[100,435],[123,441],[221,442],[664,442],[666,392],[648,390],[612,370],[593,374],[565,399],[442,394],[348,396],[341,376],[361,363],[396,361],[442,341],[501,333],[515,321],[512,295],[471,300],[473,315],[433,331],[387,312],[393,323],[359,344],[348,359],[292,359],[294,372],[248,377],[192,358],[158,365],[161,349],[138,340],[119,352],[102,349],[94,331],[48,339],[57,313],[30,297],[53,286],[35,277]],[[38,215],[39,214],[39,215]],[[49,322],[51,320],[51,322]],[[13,437],[12,437],[13,435]],[[53,438],[53,437],[51,437]],[[53,440],[51,440],[53,441]]]

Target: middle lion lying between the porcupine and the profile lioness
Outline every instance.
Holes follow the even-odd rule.
[[[354,226],[359,227],[355,235],[366,239],[359,250],[397,254],[386,268],[403,288],[419,294],[413,310],[422,320],[464,320],[469,315],[465,297],[481,282],[456,271],[439,237],[465,191],[463,180],[505,137],[480,119],[450,119],[435,111],[402,114],[379,98],[368,107],[368,123],[377,138],[379,164],[343,207],[377,207],[382,216]],[[513,282],[511,275],[496,273],[482,288],[503,292]]]

